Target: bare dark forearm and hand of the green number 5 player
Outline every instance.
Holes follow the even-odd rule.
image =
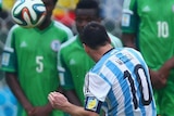
[[[28,116],[49,116],[49,113],[53,109],[51,104],[48,102],[45,106],[33,106],[32,103],[27,100],[25,93],[23,92],[17,76],[15,73],[5,73],[5,79],[7,82],[16,96],[16,99],[20,101],[20,103],[25,108]]]

